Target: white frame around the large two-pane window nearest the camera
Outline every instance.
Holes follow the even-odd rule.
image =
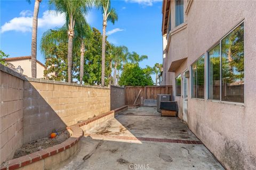
[[[244,106],[245,105],[245,86],[244,86],[244,102],[243,103],[239,103],[239,102],[235,102],[235,101],[225,101],[225,100],[222,100],[222,49],[221,49],[221,41],[226,38],[231,32],[233,32],[236,28],[238,28],[241,24],[244,24],[244,19],[240,22],[238,22],[235,27],[233,27],[228,33],[226,33],[220,40],[217,41],[217,43],[215,43],[213,46],[211,46],[211,48],[209,48],[207,51],[206,51],[206,54],[207,54],[207,57],[206,57],[206,60],[207,60],[207,64],[206,64],[206,69],[207,69],[207,73],[206,73],[206,77],[207,77],[207,84],[206,84],[206,95],[207,95],[207,101],[214,101],[214,102],[218,102],[218,103],[225,103],[225,104],[233,104],[233,105],[238,105],[238,106]],[[245,24],[244,24],[244,32],[245,32]],[[210,50],[212,50],[215,46],[217,46],[218,44],[220,44],[220,100],[217,100],[217,99],[210,99],[209,98],[209,69],[210,69],[210,63],[209,63],[209,52]],[[245,45],[245,34],[244,34],[244,44]],[[245,52],[244,52],[244,66],[245,66]],[[194,63],[193,63],[194,64]],[[245,69],[244,69],[244,84],[245,84]]]

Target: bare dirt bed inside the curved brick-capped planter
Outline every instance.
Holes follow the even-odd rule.
[[[43,149],[52,147],[54,145],[58,145],[58,144],[64,142],[65,140],[67,140],[69,137],[70,137],[69,132],[67,130],[65,130],[65,131],[58,132],[57,137],[55,137],[53,139],[42,138],[42,139],[37,139],[35,141],[26,143],[20,149],[17,149],[15,151],[13,159],[31,154],[31,153],[39,151],[39,150],[43,150]]]

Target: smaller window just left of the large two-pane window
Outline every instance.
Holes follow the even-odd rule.
[[[191,96],[204,99],[204,55],[191,65]]]

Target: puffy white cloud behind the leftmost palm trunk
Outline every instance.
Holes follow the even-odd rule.
[[[1,33],[6,31],[31,32],[33,16],[31,11],[21,11],[19,17],[4,23]],[[44,11],[42,18],[38,18],[38,28],[61,27],[65,23],[65,16],[54,11]]]

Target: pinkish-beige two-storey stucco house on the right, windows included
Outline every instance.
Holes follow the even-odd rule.
[[[256,1],[163,1],[162,84],[227,169],[256,169]]]

